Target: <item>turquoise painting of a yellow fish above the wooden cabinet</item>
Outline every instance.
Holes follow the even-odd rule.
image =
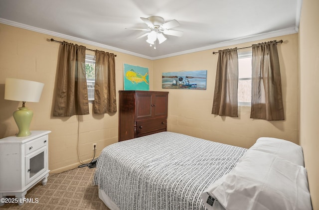
[[[124,90],[149,91],[149,69],[124,64]]]

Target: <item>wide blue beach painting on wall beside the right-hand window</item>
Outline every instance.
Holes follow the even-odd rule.
[[[162,89],[206,90],[207,70],[163,72]]]

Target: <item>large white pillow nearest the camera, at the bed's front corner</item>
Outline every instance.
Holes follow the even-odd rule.
[[[211,206],[207,197],[218,201]],[[304,167],[276,155],[248,150],[237,165],[212,183],[202,199],[208,210],[312,210]]]

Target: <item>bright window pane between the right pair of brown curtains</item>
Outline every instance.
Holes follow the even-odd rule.
[[[238,105],[251,106],[252,52],[238,54]]]

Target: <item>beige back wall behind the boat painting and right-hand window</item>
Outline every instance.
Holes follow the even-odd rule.
[[[278,51],[286,120],[250,119],[250,107],[247,106],[239,107],[238,118],[211,114],[218,59],[218,54],[213,55],[212,52],[224,48],[251,46],[253,43],[274,39],[284,41],[283,44],[278,44]],[[169,90],[168,130],[241,147],[250,147],[261,136],[283,138],[298,143],[298,34],[258,42],[155,60],[153,72],[155,90],[163,90],[160,80],[163,72],[207,70],[207,90],[165,89]]]

